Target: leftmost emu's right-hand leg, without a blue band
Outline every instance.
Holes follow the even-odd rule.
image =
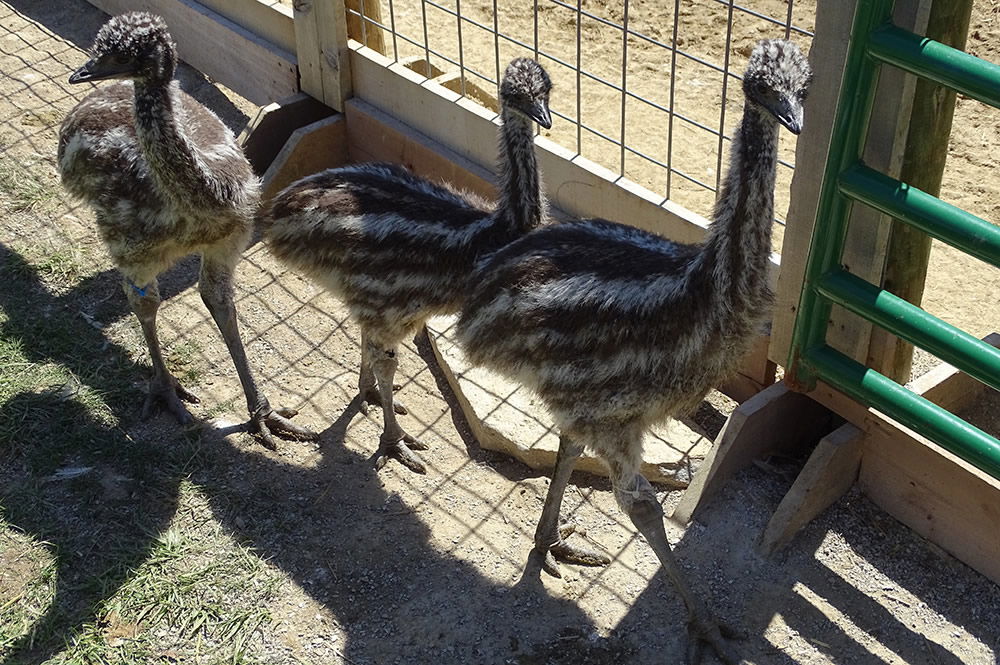
[[[253,430],[260,434],[264,445],[271,450],[278,449],[278,442],[272,435],[272,430],[285,439],[312,441],[319,435],[293,423],[289,418],[298,412],[294,409],[272,409],[267,398],[257,389],[257,381],[250,366],[247,364],[243,341],[240,339],[239,325],[236,321],[236,305],[233,303],[232,266],[229,262],[218,261],[203,256],[201,260],[201,275],[198,280],[198,290],[201,299],[212,314],[215,325],[218,326],[222,339],[226,342],[229,355],[236,366],[236,373],[243,384],[243,393],[247,398],[247,410]]]

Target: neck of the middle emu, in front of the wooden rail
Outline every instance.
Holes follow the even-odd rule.
[[[544,214],[531,122],[507,108],[501,119],[497,216],[512,229],[527,233]]]

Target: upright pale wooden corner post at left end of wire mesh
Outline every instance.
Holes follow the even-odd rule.
[[[302,91],[343,111],[351,96],[344,0],[296,0],[294,18]]]

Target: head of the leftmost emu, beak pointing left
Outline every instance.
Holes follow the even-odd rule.
[[[170,80],[177,55],[163,19],[146,12],[113,16],[90,50],[93,56],[73,72],[70,83],[103,79]]]

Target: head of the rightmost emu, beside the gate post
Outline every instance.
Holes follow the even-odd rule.
[[[743,94],[793,134],[802,131],[802,104],[812,69],[799,47],[783,39],[765,39],[754,47],[743,76]]]

